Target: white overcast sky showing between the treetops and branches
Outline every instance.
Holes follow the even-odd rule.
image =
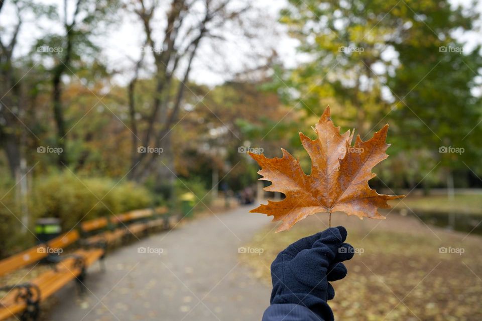
[[[44,4],[59,4],[58,0],[37,1]],[[197,59],[194,62],[191,77],[193,80],[209,85],[221,83],[231,78],[232,72],[241,71],[246,67],[246,64],[255,66],[262,63],[262,61],[254,61],[250,53],[257,50],[262,53],[268,53],[267,50],[270,47],[276,49],[281,60],[288,67],[292,67],[299,62],[300,56],[296,55],[297,42],[286,35],[286,30],[283,26],[277,24],[279,10],[286,5],[286,1],[257,0],[253,3],[263,13],[267,25],[271,26],[271,28],[260,30],[262,34],[260,34],[258,42],[246,42],[243,40],[243,37],[238,37],[235,33],[231,33],[229,35],[226,34],[229,41],[223,46],[213,48],[209,46],[209,42],[205,43],[200,48],[201,52],[197,55]],[[454,0],[452,3],[468,5],[470,1]],[[15,14],[8,4],[7,2],[6,8],[0,16],[0,25],[3,27],[11,26],[14,22],[13,17],[15,17]],[[70,4],[73,7],[73,3],[70,2]],[[73,8],[69,9],[73,10]],[[481,3],[478,4],[477,10],[482,13]],[[35,28],[35,25],[38,24],[42,26],[43,30]],[[273,27],[275,28],[274,30]],[[40,38],[46,32],[55,32],[56,28],[59,28],[59,26],[52,24],[51,21],[39,22],[27,19],[27,23],[20,34],[19,48],[15,54],[17,56],[25,54],[33,45],[34,39]],[[96,42],[103,48],[102,58],[108,63],[110,68],[127,71],[121,73],[121,76],[116,78],[116,81],[125,82],[130,75],[129,70],[132,69],[133,60],[137,59],[141,54],[141,44],[144,39],[141,25],[135,17],[123,16],[121,21],[107,28],[105,32],[100,31],[100,33],[103,36],[97,38]],[[468,41],[468,49],[482,41],[482,35],[479,33],[457,34],[457,36]]]

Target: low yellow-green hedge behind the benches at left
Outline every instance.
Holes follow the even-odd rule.
[[[77,177],[70,171],[40,176],[28,197],[29,223],[22,223],[23,211],[16,199],[17,186],[9,181],[0,186],[0,257],[22,251],[35,243],[35,221],[59,218],[62,230],[78,228],[81,221],[153,205],[153,194],[132,181],[117,182],[102,177]]]

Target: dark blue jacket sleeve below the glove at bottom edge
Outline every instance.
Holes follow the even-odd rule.
[[[262,321],[323,321],[319,315],[303,305],[294,303],[271,304]]]

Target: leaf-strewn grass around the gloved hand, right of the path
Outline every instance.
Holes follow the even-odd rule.
[[[340,320],[482,319],[482,238],[427,227],[413,217],[391,213],[387,220],[358,220],[335,213],[333,223],[348,230],[347,242],[359,254],[348,262],[348,275],[333,282],[331,300]],[[240,255],[254,275],[271,284],[270,264],[290,243],[326,228],[323,213],[275,234],[261,231],[248,246],[262,255]],[[464,253],[440,253],[440,247]]]

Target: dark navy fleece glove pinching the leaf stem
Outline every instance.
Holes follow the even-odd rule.
[[[345,277],[342,261],[353,257],[346,230],[339,226],[303,238],[280,252],[271,264],[271,304],[304,305],[325,321],[333,320],[326,303],[335,296],[328,281]]]

